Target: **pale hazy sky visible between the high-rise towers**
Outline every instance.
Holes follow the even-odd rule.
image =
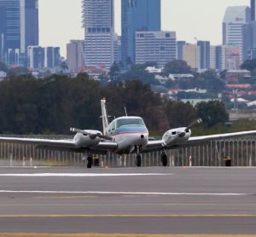
[[[120,34],[120,2],[115,1],[115,28]],[[139,0],[138,0],[139,1]],[[70,39],[83,39],[82,0],[39,0],[40,45],[61,46],[66,57]],[[222,42],[222,20],[228,6],[249,5],[249,0],[161,0],[162,30],[176,31],[177,40],[195,38]]]

